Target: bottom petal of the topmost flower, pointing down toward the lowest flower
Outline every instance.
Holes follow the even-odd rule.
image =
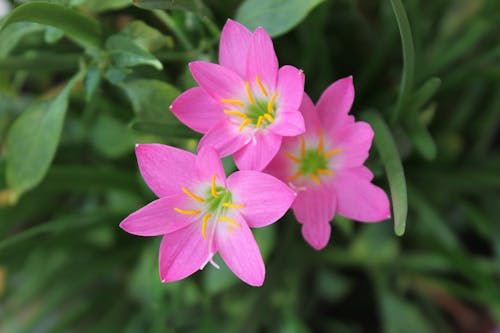
[[[233,155],[240,170],[264,169],[276,155],[281,146],[281,136],[270,131],[258,132],[255,139]]]

